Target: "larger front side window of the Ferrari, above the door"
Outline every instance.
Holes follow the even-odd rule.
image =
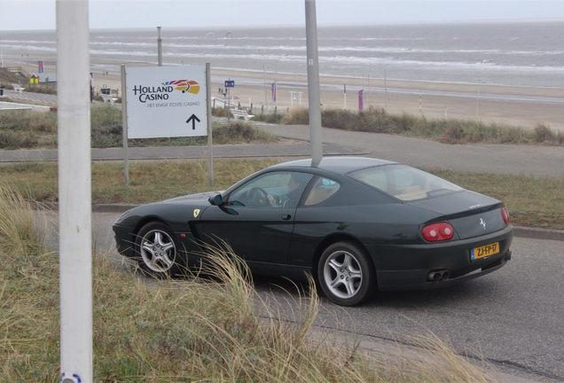
[[[233,191],[227,206],[296,207],[312,177],[287,171],[257,176]]]

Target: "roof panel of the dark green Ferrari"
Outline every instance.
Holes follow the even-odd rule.
[[[273,168],[320,168],[333,173],[347,174],[362,168],[372,168],[381,165],[396,164],[388,160],[378,160],[367,157],[324,157],[321,159],[317,166],[312,164],[312,159],[307,160],[293,160],[283,162],[278,165],[271,166]],[[296,169],[297,170],[297,169]]]

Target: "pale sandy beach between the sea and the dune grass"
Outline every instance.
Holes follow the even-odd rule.
[[[4,66],[10,65],[10,57],[4,58]],[[15,59],[15,58],[14,58]],[[29,58],[29,62],[33,62]],[[120,65],[110,61],[95,61],[97,64]],[[129,66],[129,63],[125,63]],[[139,66],[139,64],[136,64]],[[27,72],[35,73],[36,66],[23,66]],[[47,70],[48,72],[49,70]],[[266,87],[263,85],[266,75]],[[213,79],[235,80],[231,88],[233,103],[241,106],[262,108],[266,113],[308,106],[307,77],[301,74],[273,74],[251,71],[214,69],[211,66],[211,96],[223,98],[219,89],[223,82]],[[237,79],[252,79],[257,85],[240,85]],[[277,102],[270,101],[270,84],[278,83]],[[384,79],[349,78],[320,76],[322,108],[346,108],[358,110],[358,90],[363,88],[364,109],[370,106],[387,108],[389,113],[423,114],[427,118],[478,119],[483,122],[497,122],[512,126],[534,129],[537,124],[549,125],[552,129],[564,131],[564,89],[509,87],[487,84],[468,84],[451,82],[414,82]],[[294,85],[295,84],[295,85]],[[347,93],[344,92],[345,84]],[[113,94],[121,96],[121,76],[115,74],[93,73],[92,85],[98,93],[102,88],[110,88]],[[266,91],[265,91],[266,90]],[[388,90],[388,91],[385,91]],[[421,95],[419,95],[419,91]],[[290,93],[294,92],[294,93]],[[437,92],[429,95],[426,92]],[[506,99],[491,99],[492,95],[527,98],[552,98],[556,102],[537,102]],[[300,103],[301,96],[301,103]],[[268,102],[265,101],[268,98]],[[550,100],[549,100],[550,101]],[[256,113],[256,109],[254,110]]]

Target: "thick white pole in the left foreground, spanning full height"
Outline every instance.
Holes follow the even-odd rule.
[[[88,0],[57,0],[60,381],[92,382]]]

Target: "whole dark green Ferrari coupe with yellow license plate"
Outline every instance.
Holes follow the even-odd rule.
[[[378,290],[449,286],[511,259],[503,202],[396,162],[294,160],[223,192],[135,207],[114,223],[118,251],[153,274],[200,263],[229,244],[256,274],[312,275],[333,302]]]

